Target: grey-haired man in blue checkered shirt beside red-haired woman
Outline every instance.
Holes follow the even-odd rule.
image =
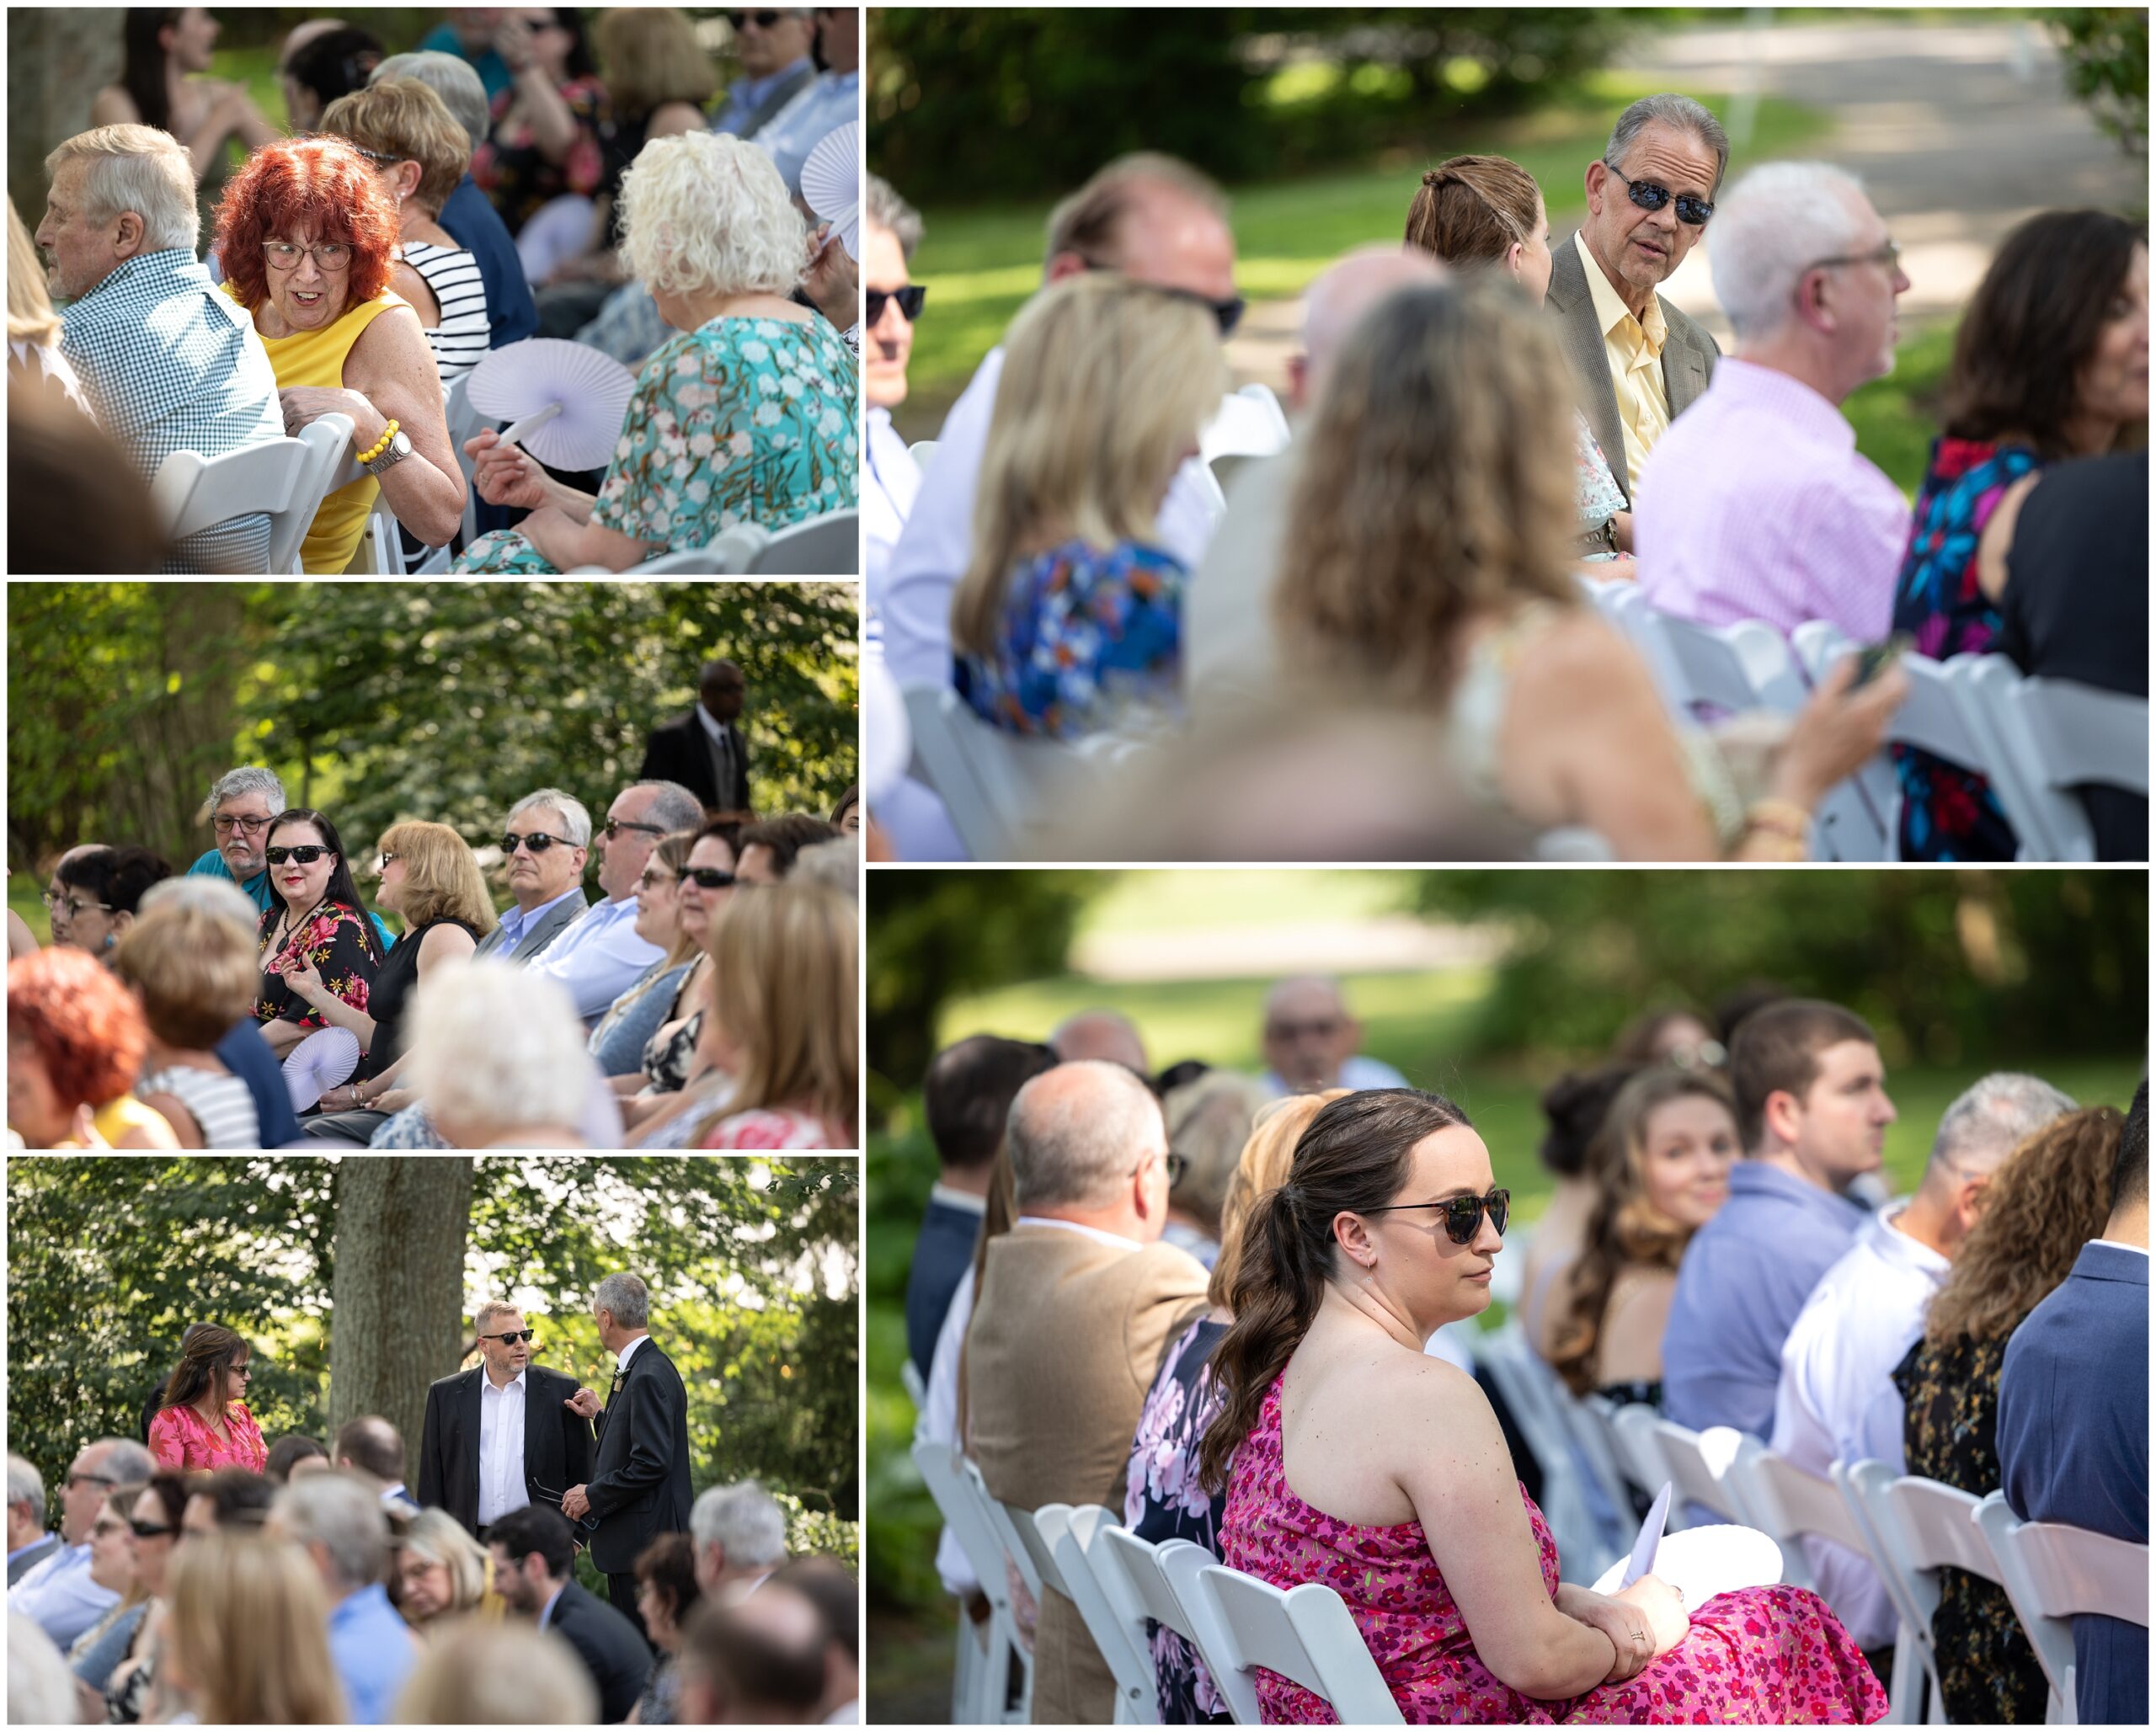
[[[37,243],[52,297],[73,302],[60,353],[142,478],[175,450],[222,457],[282,439],[270,351],[194,256],[201,211],[188,146],[157,127],[97,127],[60,144],[45,168]],[[183,539],[164,571],[263,571],[267,560],[270,515],[254,511]]]

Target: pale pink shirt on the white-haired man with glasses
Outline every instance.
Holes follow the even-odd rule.
[[[1833,620],[1874,642],[1908,547],[1902,491],[1811,386],[1725,355],[1639,478],[1639,586],[1699,625]]]

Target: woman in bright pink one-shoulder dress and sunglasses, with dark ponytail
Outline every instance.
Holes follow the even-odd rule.
[[[1363,1090],[1311,1120],[1253,1206],[1214,1351],[1227,1400],[1199,1471],[1227,1486],[1222,1560],[1339,1592],[1416,1726],[1884,1719],[1856,1642],[1802,1588],[1686,1607],[1654,1575],[1619,1594],[1557,1579],[1490,1402],[1423,1351],[1490,1303],[1509,1204],[1438,1094]],[[1257,1693],[1266,1721],[1335,1719],[1272,1672]]]

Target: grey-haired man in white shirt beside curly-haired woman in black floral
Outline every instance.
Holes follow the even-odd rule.
[[[2005,1159],[2074,1103],[2040,1077],[1994,1071],[1940,1114],[1917,1193],[1889,1204],[1828,1265],[1781,1349],[1774,1454],[1828,1478],[1837,1461],[1902,1471],[1902,1392],[1893,1368],[1984,1213]],[[1820,1594],[1861,1648],[1887,1648],[1897,1618],[1878,1570],[1830,1540],[1805,1540]]]

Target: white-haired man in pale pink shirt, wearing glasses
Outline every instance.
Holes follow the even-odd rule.
[[[1708,263],[1738,347],[1641,474],[1641,592],[1699,625],[1884,638],[1910,511],[1841,403],[1893,371],[1902,252],[1856,177],[1774,162],[1723,198]]]

